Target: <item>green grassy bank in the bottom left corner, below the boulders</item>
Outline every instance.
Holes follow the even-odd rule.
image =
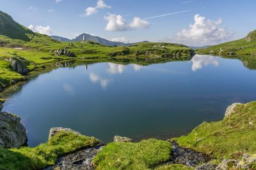
[[[0,148],[0,169],[44,169],[54,165],[58,157],[79,148],[92,147],[99,141],[92,137],[60,132],[48,143],[35,148],[22,147],[15,149]]]

